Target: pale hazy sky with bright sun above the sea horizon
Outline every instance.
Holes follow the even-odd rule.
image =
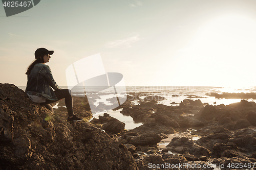
[[[10,17],[1,6],[0,28],[0,83],[26,86],[46,47],[59,86],[70,64],[98,53],[127,86],[256,86],[254,0],[44,0]]]

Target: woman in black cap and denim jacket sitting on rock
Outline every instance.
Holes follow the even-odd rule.
[[[28,82],[25,91],[32,102],[40,103],[41,106],[45,106],[52,112],[53,108],[49,104],[65,98],[65,104],[69,114],[68,121],[80,121],[82,118],[77,117],[73,113],[71,90],[59,88],[53,79],[50,67],[45,64],[49,62],[50,55],[52,54],[53,51],[48,51],[46,48],[38,48],[35,51],[36,60],[30,64],[26,72]]]

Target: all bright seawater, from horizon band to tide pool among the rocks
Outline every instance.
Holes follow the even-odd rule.
[[[25,90],[25,86],[20,86],[20,89]],[[68,88],[65,86],[60,86],[60,88]],[[84,92],[83,87],[74,87],[72,89],[72,94],[74,96],[84,96],[87,95],[88,98],[93,99],[93,105],[98,107],[100,103],[105,104],[106,106],[114,106],[113,101],[110,99],[119,98],[125,99],[126,93],[136,94],[141,100],[144,98],[149,98],[149,96],[157,95],[164,97],[166,100],[159,101],[159,104],[167,106],[176,106],[179,105],[184,99],[189,99],[188,96],[193,96],[191,100],[200,99],[202,103],[208,103],[210,105],[229,105],[231,103],[240,102],[241,99],[217,99],[214,96],[206,95],[206,93],[216,92],[216,93],[250,93],[256,92],[256,87],[240,87],[240,88],[231,88],[231,87],[214,87],[214,86],[126,86],[118,87],[118,90],[109,89],[108,87],[87,87],[87,91]],[[103,89],[103,90],[102,90]],[[248,101],[256,102],[256,100],[248,99]],[[177,104],[171,104],[175,102]],[[139,101],[133,101],[132,104],[139,104]],[[91,106],[91,104],[90,104]],[[115,106],[118,106],[117,104]],[[55,106],[56,108],[57,106]],[[112,108],[113,109],[113,108]],[[103,113],[108,113],[111,116],[119,119],[121,122],[125,123],[125,129],[133,129],[141,125],[141,123],[134,123],[132,117],[123,116],[120,114],[120,110],[113,111],[110,107],[106,107],[104,110],[95,111],[94,117],[98,118],[99,115]]]

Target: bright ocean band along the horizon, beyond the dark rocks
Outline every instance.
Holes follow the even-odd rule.
[[[20,89],[25,90],[26,86],[19,86]],[[60,88],[68,88],[67,86],[60,86]],[[117,95],[124,97],[126,93],[136,92],[137,96],[140,99],[144,99],[146,96],[158,95],[164,97],[166,100],[160,101],[159,103],[164,105],[172,105],[172,102],[180,103],[184,99],[189,99],[189,95],[194,95],[195,98],[192,100],[200,99],[202,103],[208,103],[210,105],[229,105],[231,103],[240,102],[241,99],[217,99],[214,96],[208,96],[206,93],[217,92],[230,92],[230,93],[256,93],[256,86],[252,87],[242,87],[242,88],[231,88],[231,87],[214,87],[214,86],[126,86],[119,87]],[[100,91],[101,90],[101,91]],[[90,87],[87,88],[87,92],[81,93],[83,87],[74,87],[72,89],[72,94],[74,96],[84,96],[93,95],[96,98],[95,105],[99,105],[100,102],[111,105],[111,102],[108,99],[111,99],[116,96],[113,89],[102,90],[102,87]],[[97,94],[95,96],[95,94]],[[176,95],[176,96],[173,96]],[[198,98],[196,96],[199,96]],[[256,102],[256,100],[248,99],[248,101]],[[216,104],[214,104],[216,102]],[[134,104],[138,104],[138,101],[135,101]]]

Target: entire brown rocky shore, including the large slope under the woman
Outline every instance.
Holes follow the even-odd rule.
[[[106,113],[69,123],[63,100],[52,114],[0,84],[0,169],[256,169],[254,102],[212,106],[188,96],[165,106],[154,93],[138,96],[116,108],[143,123],[127,131]],[[74,97],[74,112],[92,118],[86,98]]]

